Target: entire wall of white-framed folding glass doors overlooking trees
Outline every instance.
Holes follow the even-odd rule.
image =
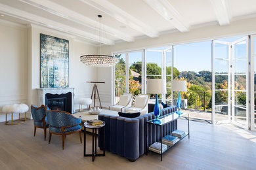
[[[186,80],[188,92],[181,93],[182,109],[188,109],[186,112],[190,112],[191,118],[212,123],[213,120],[216,122],[232,120],[246,126],[249,122],[247,90],[256,84],[253,84],[256,82],[256,61],[253,61],[256,56],[255,37],[256,35],[253,35],[251,38],[251,49],[253,49],[251,73],[255,73],[251,74],[253,77],[251,86],[247,81],[249,73],[247,71],[249,67],[248,53],[246,53],[247,37],[232,37],[116,54],[119,63],[115,67],[115,103],[119,95],[124,92],[134,95],[146,93],[146,79],[162,78],[166,81],[167,93],[159,94],[159,102],[164,101],[175,105],[177,92],[171,91],[171,80]],[[251,90],[251,96],[256,96],[256,90]],[[253,97],[251,101],[256,101]],[[155,94],[150,94],[150,99],[153,103]],[[251,106],[251,110],[256,110],[254,106]],[[252,111],[251,115],[251,127],[255,127],[255,113]]]

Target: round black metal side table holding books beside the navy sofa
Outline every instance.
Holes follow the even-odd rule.
[[[105,122],[102,125],[92,126],[85,122],[83,124],[83,156],[91,156],[92,161],[95,161],[95,156],[105,156]],[[97,129],[103,127],[103,154],[97,154]],[[86,154],[86,128],[93,129],[93,152],[92,154]]]

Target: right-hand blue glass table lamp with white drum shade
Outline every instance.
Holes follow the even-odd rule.
[[[171,90],[178,92],[177,107],[178,107],[179,111],[177,111],[177,114],[182,114],[182,112],[181,112],[181,92],[186,92],[186,80],[173,80],[171,82]]]

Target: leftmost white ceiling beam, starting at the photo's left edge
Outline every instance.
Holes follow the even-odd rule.
[[[89,39],[95,42],[102,42],[103,44],[113,45],[114,41],[110,39],[106,39],[101,37],[101,41],[97,35],[92,33],[87,33],[85,31],[81,31],[80,29],[76,29],[74,27],[61,24],[60,22],[55,22],[53,20],[49,20],[47,18],[43,18],[41,16],[37,16],[35,14],[31,14],[25,12],[23,10],[15,9],[13,7],[9,7],[7,5],[3,5],[0,3],[0,12],[14,18],[19,18],[21,20],[26,20],[32,24],[42,25],[44,27],[49,27],[51,29],[55,29],[57,31],[62,31],[64,33],[69,33],[71,35],[75,35],[77,37],[81,37],[83,39]]]

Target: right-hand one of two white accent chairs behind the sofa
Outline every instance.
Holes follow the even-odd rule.
[[[139,94],[135,97],[135,103],[132,107],[126,108],[125,112],[140,112],[140,115],[148,113],[148,94]]]

